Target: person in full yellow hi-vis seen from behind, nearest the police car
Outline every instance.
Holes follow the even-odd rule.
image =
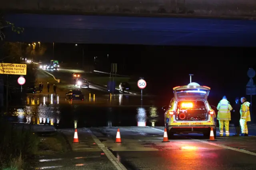
[[[229,136],[229,121],[231,121],[231,113],[232,107],[227,100],[226,96],[223,96],[222,100],[219,102],[217,106],[218,116],[217,119],[219,120],[220,124],[220,136],[223,136],[223,127],[225,125],[226,136]]]

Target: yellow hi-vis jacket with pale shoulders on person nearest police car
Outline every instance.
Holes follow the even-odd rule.
[[[226,99],[222,99],[218,106],[218,116],[217,119],[220,121],[231,121],[231,113],[230,111],[232,111],[232,107],[230,105],[230,103],[228,102],[228,100]]]

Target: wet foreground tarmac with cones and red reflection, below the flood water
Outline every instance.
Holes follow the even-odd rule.
[[[256,166],[255,136],[220,138],[217,135],[217,141],[209,142],[201,135],[188,134],[163,143],[163,127],[119,129],[122,143],[115,142],[117,127],[78,128],[79,144],[72,144],[74,129],[62,129],[60,131],[69,138],[72,153],[48,156],[44,162],[38,160],[37,167],[56,170],[254,170]]]

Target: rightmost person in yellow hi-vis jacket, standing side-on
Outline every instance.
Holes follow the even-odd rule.
[[[246,101],[245,97],[241,98],[241,103],[242,103],[241,109],[240,109],[240,115],[241,115],[240,125],[242,130],[241,136],[248,136],[247,122],[251,121],[250,108],[249,108],[250,103]]]

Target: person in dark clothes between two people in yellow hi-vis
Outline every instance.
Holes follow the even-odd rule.
[[[236,128],[236,134],[234,136],[239,136],[240,134],[240,108],[241,105],[239,103],[239,97],[236,97],[236,104],[234,105],[233,114],[232,114],[232,121],[234,123],[234,127]]]

